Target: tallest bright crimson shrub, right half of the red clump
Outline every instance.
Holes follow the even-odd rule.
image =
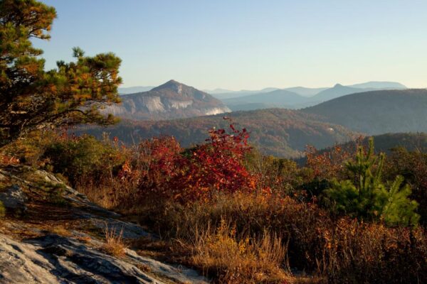
[[[186,158],[186,171],[176,180],[176,197],[184,200],[207,199],[212,192],[251,191],[255,178],[243,165],[243,158],[251,147],[246,129],[232,133],[224,129],[209,131],[207,143],[196,146]],[[181,186],[179,186],[181,185]]]

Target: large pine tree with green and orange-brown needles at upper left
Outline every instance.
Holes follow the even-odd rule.
[[[115,121],[100,108],[120,101],[120,58],[73,48],[74,62],[45,71],[43,50],[31,40],[48,40],[54,18],[39,1],[0,0],[0,146],[36,129]]]

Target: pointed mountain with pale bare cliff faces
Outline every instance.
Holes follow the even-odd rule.
[[[179,119],[229,111],[225,104],[210,94],[174,80],[149,92],[123,95],[122,104],[104,109],[105,114],[134,120]]]

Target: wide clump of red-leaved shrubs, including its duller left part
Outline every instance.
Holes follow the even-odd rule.
[[[122,166],[122,180],[137,184],[132,197],[140,202],[150,196],[183,204],[209,200],[216,192],[251,192],[256,179],[244,165],[246,129],[233,134],[224,129],[209,131],[206,143],[183,149],[172,137],[152,138],[139,144],[137,155]]]

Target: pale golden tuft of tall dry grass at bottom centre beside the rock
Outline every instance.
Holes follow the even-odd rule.
[[[286,247],[280,237],[265,232],[259,238],[238,237],[221,220],[216,229],[196,234],[191,264],[221,283],[288,283],[282,263]]]

